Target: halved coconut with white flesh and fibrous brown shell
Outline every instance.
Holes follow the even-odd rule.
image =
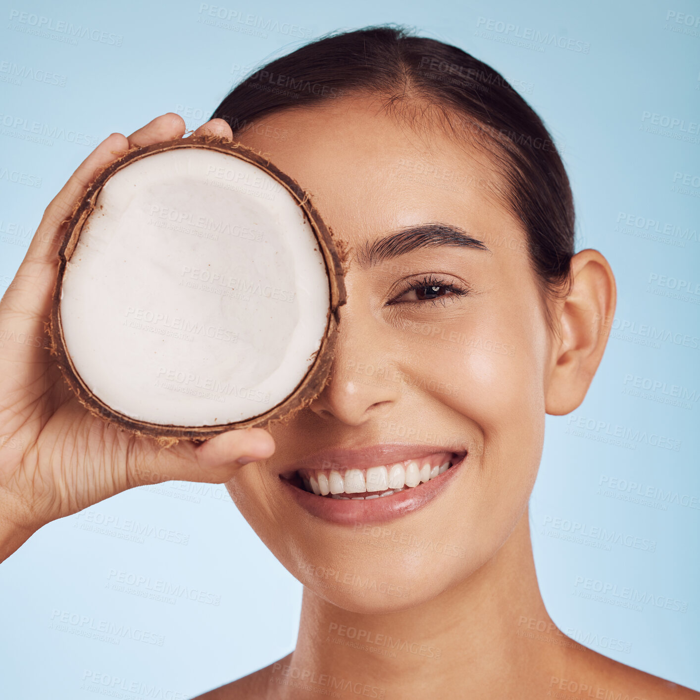
[[[283,419],[328,379],[342,253],[309,196],[212,137],[129,151],[66,230],[50,321],[69,386],[141,435]]]

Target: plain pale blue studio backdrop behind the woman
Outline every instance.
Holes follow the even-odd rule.
[[[580,643],[700,690],[698,3],[221,1],[3,3],[0,294],[48,202],[111,132],[167,111],[195,129],[253,66],[333,29],[398,22],[474,54],[545,120],[577,248],[617,276],[591,390],[547,417],[531,500],[542,596]],[[166,535],[128,538],[127,519]],[[148,598],[158,581],[196,595]],[[301,593],[223,486],[127,491],[0,567],[0,696],[89,699],[105,676],[194,696],[290,652]],[[147,634],[84,636],[101,623]]]

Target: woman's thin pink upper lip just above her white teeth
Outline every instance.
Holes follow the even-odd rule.
[[[296,462],[279,468],[281,477],[292,477],[300,469],[367,469],[379,465],[395,464],[407,459],[419,459],[437,452],[454,452],[461,457],[467,454],[465,447],[444,444],[407,444],[389,442],[367,447],[323,449]]]

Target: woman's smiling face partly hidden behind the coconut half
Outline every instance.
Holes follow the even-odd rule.
[[[238,137],[311,194],[351,255],[330,382],[270,427],[274,455],[227,485],[283,566],[346,610],[412,607],[491,559],[542,451],[553,344],[526,235],[494,199],[486,157],[427,129],[340,99]],[[428,224],[442,228],[412,231]],[[435,482],[369,500],[285,480],[307,468],[350,484],[351,468],[366,480],[394,463],[435,475],[445,461]],[[386,488],[381,470],[371,477]]]

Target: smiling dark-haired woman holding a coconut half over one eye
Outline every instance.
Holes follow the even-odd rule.
[[[528,528],[545,414],[580,405],[615,311],[573,253],[566,172],[538,116],[453,46],[370,28],[244,80],[197,134],[265,153],[349,246],[323,393],[286,423],[159,449],[66,391],[42,339],[62,225],[95,172],[182,136],[111,134],[46,209],[0,304],[3,556],[140,484],[226,482],[304,584],[295,650],[201,696],[690,698],[576,645],[538,589]],[[10,454],[12,453],[12,454]],[[534,625],[531,623],[535,623]],[[552,643],[522,633],[545,625]]]

